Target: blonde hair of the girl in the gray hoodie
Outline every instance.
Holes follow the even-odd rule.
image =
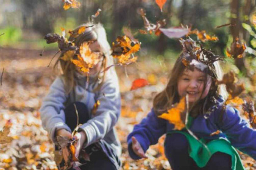
[[[79,30],[80,27],[82,26],[92,26],[92,25],[93,24],[91,23],[82,24],[76,29],[74,29],[74,32]],[[80,45],[83,42],[97,41],[99,46],[101,47],[101,52],[104,54],[104,60],[102,62],[102,66],[103,66],[102,70],[108,66],[113,65],[113,57],[110,55],[110,45],[107,42],[107,34],[105,32],[104,27],[101,24],[94,24],[92,27],[88,27],[87,29],[85,29],[85,32],[81,33],[76,38],[74,38],[73,36],[70,36],[68,40],[71,42],[74,42],[74,45],[77,47],[80,47]],[[63,56],[63,53],[60,55],[60,57],[61,56]],[[66,94],[69,94],[69,92],[71,92],[71,90],[76,85],[76,82],[74,80],[76,66],[74,66],[74,64],[71,63],[71,61],[60,60],[60,57],[59,57],[59,60],[57,60],[57,62],[55,63],[54,67],[56,68],[57,64],[60,63],[62,75],[65,80],[65,92]],[[113,73],[113,71],[115,71],[114,68],[107,70],[108,73]],[[102,78],[102,81],[94,90],[97,90],[102,86],[102,83],[104,82],[104,79],[105,79],[105,72],[98,73],[98,78],[99,77]]]

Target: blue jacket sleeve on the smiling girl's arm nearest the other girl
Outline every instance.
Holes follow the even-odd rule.
[[[138,160],[141,157],[135,154],[132,150],[132,137],[135,137],[140,143],[143,151],[146,152],[150,145],[156,144],[166,132],[166,120],[158,118],[155,112],[151,110],[146,118],[134,126],[133,131],[127,137],[128,151],[130,157]]]

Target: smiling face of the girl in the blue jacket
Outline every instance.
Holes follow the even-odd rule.
[[[204,82],[207,81],[204,90]],[[205,98],[212,85],[212,78],[208,75],[205,80],[205,73],[194,69],[194,71],[185,69],[178,80],[177,88],[179,96],[188,94],[188,101],[193,104],[199,98]],[[204,90],[204,92],[203,92]]]

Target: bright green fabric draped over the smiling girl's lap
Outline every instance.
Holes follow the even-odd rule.
[[[223,152],[231,155],[232,170],[244,170],[238,152],[236,152],[235,148],[233,148],[230,142],[226,139],[219,138],[217,140],[212,140],[208,143],[205,143],[203,139],[201,139],[200,142],[185,131],[172,131],[168,132],[167,135],[172,133],[180,133],[187,137],[188,143],[190,144],[188,153],[190,154],[190,157],[193,158],[193,160],[196,162],[197,166],[199,166],[199,168],[207,165],[208,160],[210,160],[215,152]],[[204,143],[205,145],[202,143]]]

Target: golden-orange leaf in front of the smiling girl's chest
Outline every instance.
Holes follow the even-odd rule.
[[[163,118],[169,121],[169,123],[174,124],[174,129],[181,130],[185,127],[182,121],[181,114],[186,110],[186,99],[185,97],[180,99],[180,102],[176,106],[168,110],[168,113],[164,113],[159,118]]]

